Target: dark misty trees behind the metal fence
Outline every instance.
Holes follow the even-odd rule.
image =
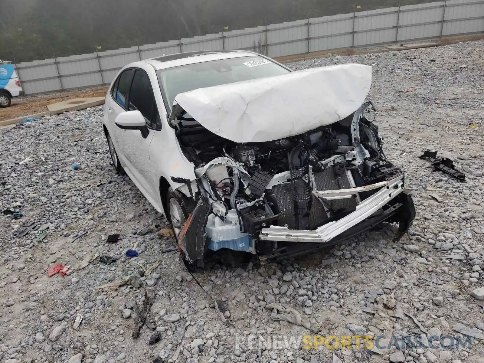
[[[425,0],[365,0],[361,10]],[[354,0],[0,0],[0,59],[32,61],[351,13]],[[360,9],[358,10],[360,11]]]

